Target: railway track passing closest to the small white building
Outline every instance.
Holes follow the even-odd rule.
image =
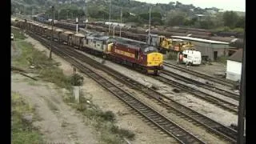
[[[206,74],[202,74],[202,73],[199,73],[198,71],[194,71],[194,70],[186,70],[184,69],[184,67],[182,66],[177,66],[177,65],[174,65],[174,64],[171,64],[169,62],[164,62],[164,65],[165,66],[168,66],[168,67],[171,67],[173,69],[176,69],[176,70],[181,70],[181,71],[184,71],[188,74],[193,74],[193,75],[196,75],[198,76],[199,78],[204,78],[204,79],[208,79],[212,82],[217,82],[219,84],[222,84],[224,86],[230,86],[230,87],[233,87],[234,86],[234,82],[232,81],[229,81],[227,79],[222,79],[222,78],[217,78],[217,77],[212,77],[210,75],[206,75]]]

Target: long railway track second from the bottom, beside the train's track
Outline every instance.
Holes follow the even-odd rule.
[[[75,52],[74,50],[68,50],[68,54],[74,54],[75,58],[78,58],[79,60],[81,60],[81,62],[90,62],[91,65],[94,65],[98,69],[105,71],[107,74],[114,76],[114,78],[118,79],[120,82],[126,83],[126,85],[130,86],[133,89],[141,90],[144,94],[148,95],[149,98],[154,98],[158,102],[161,102],[162,105],[166,106],[166,108],[169,110],[173,110],[173,112],[179,115],[181,118],[185,118],[188,121],[193,122],[194,124],[203,126],[204,128],[206,128],[206,130],[209,130],[213,134],[217,134],[219,137],[224,138],[228,142],[235,142],[237,135],[237,132],[235,130],[223,126],[222,124],[215,122],[214,120],[211,120],[210,118],[207,118],[202,114],[198,114],[198,112],[191,110],[186,106],[182,106],[182,104],[175,102],[174,100],[162,94],[159,94],[155,90],[143,86],[142,84],[118,73],[115,70],[112,70],[104,65],[99,65],[99,62],[96,62],[90,58],[86,58],[84,54],[80,54],[78,52]],[[160,97],[169,99],[169,101],[163,102],[159,99]]]

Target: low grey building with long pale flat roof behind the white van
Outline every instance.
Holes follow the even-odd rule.
[[[191,38],[182,36],[172,36],[172,38],[178,38],[192,42],[195,49],[202,53],[202,58],[210,58],[213,61],[216,60],[218,57],[226,56],[228,54],[227,50],[230,48],[229,42],[219,42],[202,38]]]

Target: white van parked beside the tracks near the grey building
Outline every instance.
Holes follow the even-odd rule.
[[[183,50],[178,53],[178,62],[186,65],[199,66],[202,62],[201,52],[198,50]]]

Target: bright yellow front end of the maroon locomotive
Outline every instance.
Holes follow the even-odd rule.
[[[147,54],[147,66],[162,66],[163,56],[161,53]]]

